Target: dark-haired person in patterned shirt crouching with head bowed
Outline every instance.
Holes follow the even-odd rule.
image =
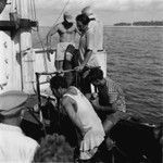
[[[93,108],[103,112],[102,116],[103,128],[106,135],[106,143],[111,145],[109,134],[111,128],[120,121],[129,118],[130,115],[126,113],[126,103],[123,90],[118,84],[111,78],[103,77],[103,72],[99,67],[91,68],[87,79],[97,88],[96,100],[91,103]],[[109,147],[110,148],[110,147]]]

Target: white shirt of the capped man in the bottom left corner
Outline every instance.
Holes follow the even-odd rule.
[[[29,163],[38,147],[20,127],[0,124],[0,163]]]

